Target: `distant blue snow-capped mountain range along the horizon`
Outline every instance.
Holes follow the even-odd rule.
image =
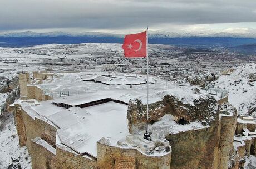
[[[0,47],[28,47],[41,44],[73,43],[122,43],[125,34],[101,32],[48,32],[32,31],[0,34]],[[149,43],[169,45],[206,45],[234,47],[256,44],[256,32],[208,33],[208,32],[149,32]]]

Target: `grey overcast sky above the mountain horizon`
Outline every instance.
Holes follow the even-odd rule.
[[[0,32],[256,29],[255,0],[1,0]]]

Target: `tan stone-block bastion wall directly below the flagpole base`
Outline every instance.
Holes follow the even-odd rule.
[[[171,153],[164,156],[149,156],[137,149],[107,145],[101,139],[97,142],[97,161],[99,169],[170,169]]]

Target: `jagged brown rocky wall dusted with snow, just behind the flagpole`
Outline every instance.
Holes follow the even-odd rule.
[[[183,98],[178,99],[173,95],[164,95],[163,100],[149,104],[149,122],[153,124],[159,121],[165,114],[171,114],[175,121],[183,122],[201,121],[204,125],[210,125],[218,115],[216,112],[217,101],[209,94],[201,94],[193,103],[184,103]],[[127,110],[129,132],[132,132],[132,125],[146,122],[146,105],[141,100],[130,101]]]

